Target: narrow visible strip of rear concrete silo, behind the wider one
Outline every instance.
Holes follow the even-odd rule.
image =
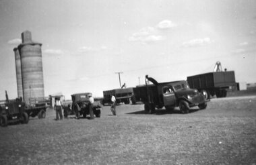
[[[22,64],[20,61],[20,52],[18,48],[14,48],[15,55],[15,68],[16,68],[16,79],[17,79],[17,91],[18,97],[23,97],[23,88],[22,88]]]

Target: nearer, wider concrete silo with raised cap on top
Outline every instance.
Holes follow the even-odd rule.
[[[29,101],[30,97],[44,97],[41,46],[40,43],[32,42],[31,32],[22,33],[22,44],[18,49],[22,66],[24,101]]]

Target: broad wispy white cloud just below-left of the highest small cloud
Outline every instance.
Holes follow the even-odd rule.
[[[130,38],[129,41],[131,42],[158,42],[160,40],[164,40],[164,38],[158,35],[157,30],[154,27],[143,27],[139,32],[134,33]]]

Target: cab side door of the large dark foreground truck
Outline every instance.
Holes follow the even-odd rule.
[[[164,106],[170,105],[174,106],[176,103],[176,97],[171,86],[162,87],[162,95],[164,99]]]

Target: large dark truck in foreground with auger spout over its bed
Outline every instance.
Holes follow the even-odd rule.
[[[146,85],[139,85],[134,89],[135,98],[144,104],[146,113],[154,113],[155,109],[173,110],[179,107],[182,113],[189,113],[190,107],[199,109],[207,107],[205,96],[197,89],[190,89],[185,80],[158,83],[154,78],[146,75]],[[153,84],[149,84],[152,82]]]

